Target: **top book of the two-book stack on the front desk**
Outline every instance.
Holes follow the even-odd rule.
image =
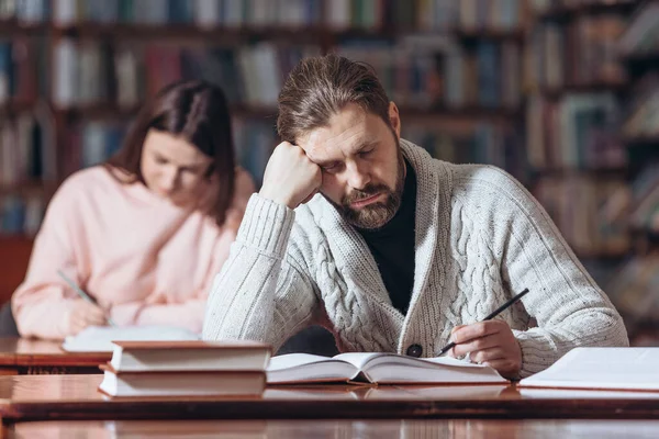
[[[110,365],[119,372],[260,371],[269,345],[256,341],[114,341]]]

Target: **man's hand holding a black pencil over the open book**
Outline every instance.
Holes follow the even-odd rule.
[[[469,354],[471,361],[488,364],[507,379],[516,379],[522,369],[522,348],[511,327],[503,320],[456,326],[450,339],[456,344],[448,351],[450,357]]]

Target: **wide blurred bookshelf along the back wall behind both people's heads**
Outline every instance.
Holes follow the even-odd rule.
[[[144,99],[180,77],[225,86],[237,157],[258,184],[277,143],[282,78],[300,57],[330,50],[376,68],[404,135],[524,179],[526,0],[144,3],[0,0],[0,81],[13,88],[0,88],[0,132],[25,148],[8,153],[0,140],[0,254],[29,249],[58,184],[115,150]],[[477,13],[483,4],[488,13]]]

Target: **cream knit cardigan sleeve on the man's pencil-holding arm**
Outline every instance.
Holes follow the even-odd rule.
[[[501,170],[491,171],[498,196],[493,239],[501,270],[537,327],[513,330],[522,348],[521,376],[551,365],[580,346],[628,346],[621,315],[528,191]]]

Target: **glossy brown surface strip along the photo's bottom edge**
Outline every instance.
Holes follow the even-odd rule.
[[[647,438],[659,420],[357,419],[44,421],[7,427],[3,438]]]

